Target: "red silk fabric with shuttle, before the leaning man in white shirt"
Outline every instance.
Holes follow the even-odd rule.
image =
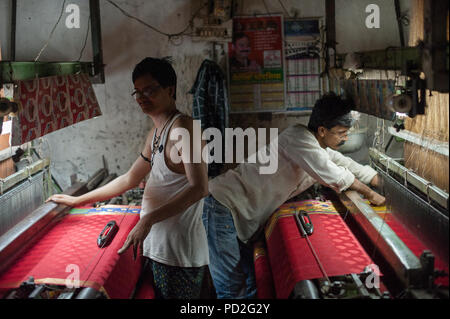
[[[297,210],[309,213],[314,225],[309,240],[328,277],[361,273],[373,264],[331,202],[305,200],[284,204],[265,228],[277,298],[288,298],[299,281],[324,277],[306,239],[300,235],[294,218]]]

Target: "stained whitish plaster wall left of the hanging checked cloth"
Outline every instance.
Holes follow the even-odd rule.
[[[16,60],[32,61],[58,20],[63,1],[18,0]],[[0,21],[9,26],[9,0],[0,0]],[[40,61],[76,61],[79,59],[88,27],[87,1],[67,0],[80,8],[79,29],[68,29],[64,13]],[[133,16],[166,33],[183,30],[199,1],[152,0],[115,1]],[[4,10],[3,10],[4,9]],[[189,37],[168,41],[148,27],[124,16],[107,1],[100,1],[105,84],[94,85],[102,116],[90,119],[35,140],[42,156],[50,157],[52,174],[62,188],[70,186],[70,176],[87,180],[103,167],[105,157],[111,173],[125,173],[144,147],[153,123],[131,97],[134,66],[147,56],[172,56],[178,75],[177,104],[191,113],[192,96],[187,92],[196,72],[208,58],[206,43],[193,43]],[[4,58],[9,57],[9,30],[2,27],[1,43]],[[5,44],[3,46],[3,44]],[[90,33],[82,61],[92,60]]]

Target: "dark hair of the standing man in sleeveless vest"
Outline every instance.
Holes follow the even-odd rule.
[[[139,62],[133,70],[132,80],[133,83],[137,78],[149,74],[154,78],[159,85],[163,88],[168,86],[174,86],[175,91],[173,94],[173,98],[176,100],[177,97],[177,74],[170,64],[170,58],[145,58],[141,62]]]

